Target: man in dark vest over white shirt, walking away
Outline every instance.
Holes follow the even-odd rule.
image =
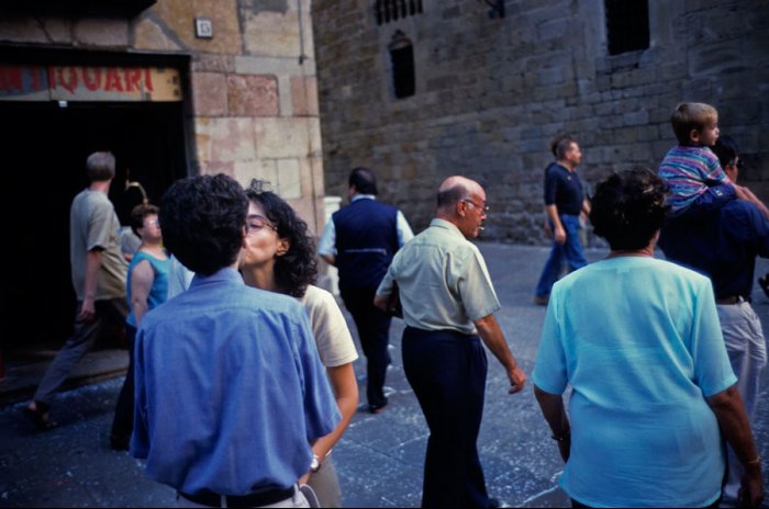
[[[403,214],[377,201],[377,179],[367,168],[349,174],[349,205],[335,212],[323,230],[317,253],[339,272],[339,293],[358,329],[366,355],[368,409],[387,406],[384,376],[390,317],[374,306],[374,295],[395,251],[414,234]]]

